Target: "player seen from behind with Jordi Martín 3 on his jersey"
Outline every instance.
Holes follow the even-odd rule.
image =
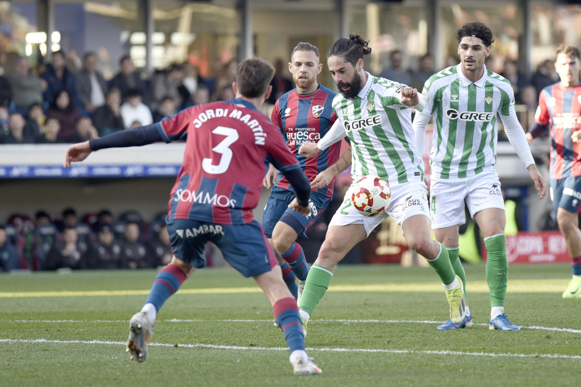
[[[149,126],[113,133],[69,147],[65,167],[83,161],[91,151],[141,146],[185,138],[184,163],[168,205],[167,231],[174,256],[157,274],[141,312],[130,321],[127,352],[146,359],[156,314],[163,303],[196,270],[206,266],[207,241],[217,245],[225,260],[254,280],[272,304],[275,320],[285,334],[296,375],[320,374],[304,350],[302,320],[268,244],[252,216],[260,199],[265,158],[285,175],[296,192],[289,208],[310,213],[309,180],[290,153],[277,126],[258,109],[272,90],[274,68],[259,58],[239,64],[233,84],[236,99],[188,108]]]

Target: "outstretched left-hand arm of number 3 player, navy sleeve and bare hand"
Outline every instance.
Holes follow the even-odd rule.
[[[71,145],[64,155],[63,165],[64,168],[70,167],[71,162],[83,161],[92,151],[99,149],[144,146],[160,141],[163,141],[163,138],[156,124],[125,129],[102,138]]]

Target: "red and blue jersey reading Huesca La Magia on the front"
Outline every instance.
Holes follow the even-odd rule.
[[[299,148],[306,142],[319,142],[319,140],[331,129],[337,115],[333,111],[333,98],[335,93],[321,84],[314,93],[301,95],[293,89],[280,97],[274,104],[271,120],[281,128],[282,134],[290,151],[299,160],[304,174],[312,182],[319,172],[324,171],[338,160],[340,154],[340,142],[328,147],[316,157],[305,158],[300,155]],[[327,197],[333,196],[333,183],[328,187],[313,190]],[[288,180],[279,173],[276,187],[292,189]]]

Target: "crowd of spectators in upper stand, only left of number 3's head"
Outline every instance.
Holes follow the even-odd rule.
[[[0,76],[0,144],[73,143],[235,97],[236,60],[220,64],[218,76],[206,79],[188,62],[156,71],[150,79],[142,78],[129,56],[121,57],[119,66],[107,80],[94,52],[85,53],[81,64],[59,50],[38,68],[31,68],[27,57],[16,59]]]

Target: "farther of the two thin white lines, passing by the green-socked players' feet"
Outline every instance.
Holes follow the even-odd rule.
[[[242,320],[242,319],[226,319],[226,320],[204,320],[204,319],[169,319],[169,320],[157,320],[163,321],[164,323],[200,323],[200,322],[229,322],[229,323],[261,323],[268,322],[272,323],[274,319],[266,320]],[[442,324],[444,321],[433,321],[433,320],[347,320],[347,319],[320,319],[311,320],[311,324],[318,322],[329,322],[329,323],[411,323],[411,324]],[[0,320],[3,323],[127,323],[127,320]],[[486,323],[479,323],[475,325],[487,326]],[[569,332],[569,333],[581,333],[581,329],[572,328],[557,328],[557,327],[541,327],[539,325],[531,325],[529,327],[521,326],[521,328],[533,329],[539,331],[553,331],[553,332]]]

